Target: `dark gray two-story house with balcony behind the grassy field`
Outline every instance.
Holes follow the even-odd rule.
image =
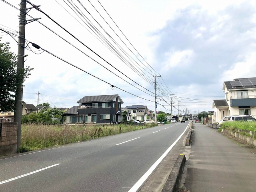
[[[67,124],[115,123],[124,103],[119,95],[85,96],[77,102],[79,106],[73,106],[63,114]]]

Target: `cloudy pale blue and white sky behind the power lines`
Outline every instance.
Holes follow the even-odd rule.
[[[6,2],[20,7],[19,0]],[[0,28],[14,38],[0,32],[1,42],[10,42],[17,54],[20,12],[6,2],[0,0]],[[24,65],[34,68],[24,82],[28,104],[36,106],[39,98],[39,104],[71,108],[84,96],[118,94],[122,107],[155,111],[156,76],[158,111],[171,113],[172,98],[172,114],[198,114],[213,111],[213,100],[225,99],[224,81],[256,77],[253,0],[30,3],[45,14],[33,8],[26,19],[41,18],[47,28],[38,21],[26,24]]]

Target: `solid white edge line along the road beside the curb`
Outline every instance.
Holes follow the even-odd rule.
[[[188,124],[189,125],[189,124]],[[178,140],[182,137],[182,135],[186,132],[188,126],[184,130],[184,132],[174,141],[174,143],[162,154],[162,156],[147,170],[147,172],[132,186],[132,188],[128,192],[136,192],[140,186],[147,180],[147,178],[152,174],[152,172],[156,169],[156,167],[162,162],[165,156],[172,150],[172,148],[176,145]]]

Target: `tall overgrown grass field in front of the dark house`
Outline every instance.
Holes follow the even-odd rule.
[[[22,124],[19,152],[85,141],[155,126],[154,124],[131,125],[41,125]]]

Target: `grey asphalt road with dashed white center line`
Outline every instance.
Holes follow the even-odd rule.
[[[0,191],[136,191],[187,126],[188,122],[164,124],[1,157]]]

